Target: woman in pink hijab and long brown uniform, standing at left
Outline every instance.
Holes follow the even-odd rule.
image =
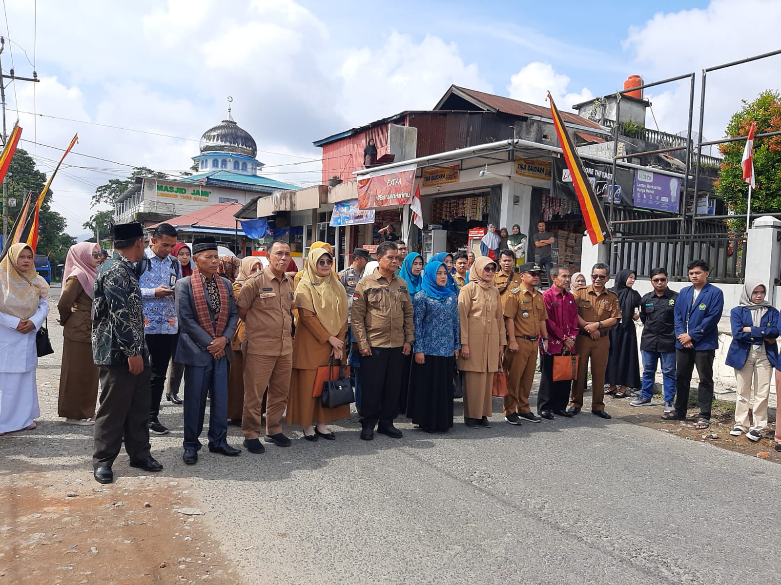
[[[67,424],[95,424],[98,367],[92,358],[92,296],[102,257],[98,244],[77,243],[70,246],[62,271],[57,303],[62,325],[57,415]]]

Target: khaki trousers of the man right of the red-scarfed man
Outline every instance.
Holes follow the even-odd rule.
[[[244,438],[259,438],[266,386],[266,434],[282,432],[282,415],[287,407],[287,393],[290,391],[293,354],[287,356],[261,356],[244,353],[244,413],[241,417],[241,432]]]

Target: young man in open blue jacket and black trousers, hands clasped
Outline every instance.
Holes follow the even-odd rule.
[[[698,430],[711,426],[713,402],[713,358],[719,347],[719,319],[724,308],[724,293],[708,282],[711,268],[704,260],[693,260],[686,268],[691,286],[678,294],[673,316],[676,324],[676,399],[674,410],[664,413],[664,420],[686,420],[689,408],[691,374],[697,367]]]

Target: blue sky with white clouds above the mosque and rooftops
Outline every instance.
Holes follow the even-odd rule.
[[[23,147],[48,172],[59,153],[43,145],[64,147],[80,136],[53,186],[54,207],[74,234],[95,211],[95,186],[123,178],[130,165],[189,167],[229,94],[234,118],[264,151],[264,174],[309,185],[320,180],[313,140],[431,108],[451,83],[539,104],[551,90],[569,108],[622,87],[632,73],[658,80],[779,48],[775,34],[736,27],[740,11],[763,30],[781,30],[778,0],[619,9],[601,1],[37,0],[37,21],[34,0],[6,5],[16,73],[32,70],[24,48],[41,77],[34,88],[9,87]],[[6,71],[10,56],[2,55]],[[781,57],[709,77],[706,137],[722,135],[741,99],[777,88],[779,65]],[[671,84],[647,97],[660,129],[686,127],[688,87]],[[23,113],[33,111],[54,117]]]

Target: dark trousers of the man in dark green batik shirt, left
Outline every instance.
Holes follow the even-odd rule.
[[[134,461],[149,456],[149,364],[141,374],[130,374],[127,362],[98,366],[101,393],[95,415],[93,468],[112,466],[122,448]]]

